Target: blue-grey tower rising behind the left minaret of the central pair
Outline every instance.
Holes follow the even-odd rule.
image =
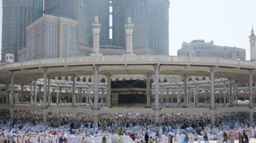
[[[92,23],[97,15],[102,25],[100,41],[109,41],[109,0],[46,0],[45,12],[77,21],[78,46],[92,44]]]

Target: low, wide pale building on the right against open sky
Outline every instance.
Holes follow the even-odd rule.
[[[216,46],[213,41],[205,42],[204,40],[194,40],[191,43],[183,42],[182,48],[177,50],[177,55],[246,60],[245,49]]]

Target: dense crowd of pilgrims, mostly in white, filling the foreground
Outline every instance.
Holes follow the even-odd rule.
[[[47,122],[42,113],[0,110],[0,143],[4,142],[234,142],[247,143],[255,137],[256,127],[247,112],[217,113],[216,125],[210,125],[207,113],[166,113],[155,124],[146,113],[101,114],[93,123],[91,113],[51,112]],[[255,115],[254,115],[255,119]],[[256,123],[256,122],[255,122]]]

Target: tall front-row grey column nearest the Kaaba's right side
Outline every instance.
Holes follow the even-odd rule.
[[[160,110],[159,107],[159,66],[154,66],[154,110]]]

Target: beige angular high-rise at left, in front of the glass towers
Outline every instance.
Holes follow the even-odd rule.
[[[19,61],[76,56],[77,21],[44,15],[26,28],[26,48]]]

